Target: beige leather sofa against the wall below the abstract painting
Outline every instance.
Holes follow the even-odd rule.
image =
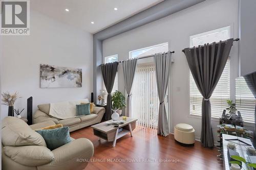
[[[67,118],[67,119],[59,119],[49,115],[50,104],[42,104],[42,105],[38,105],[37,107],[38,107],[38,110],[36,110],[35,114],[33,115],[33,124],[52,120],[55,124],[62,124],[63,126],[69,126],[70,132],[100,123],[105,113],[105,108],[94,106],[93,113],[89,115]]]

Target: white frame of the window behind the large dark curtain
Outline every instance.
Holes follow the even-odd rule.
[[[196,37],[201,37],[201,36],[205,36],[205,35],[209,35],[209,34],[212,34],[212,33],[216,33],[216,32],[220,32],[220,31],[224,31],[224,30],[228,30],[229,31],[229,37],[231,38],[232,36],[232,25],[231,26],[226,26],[226,27],[222,27],[222,28],[219,28],[219,29],[215,29],[215,30],[211,30],[211,31],[207,31],[207,32],[204,32],[204,33],[200,33],[200,34],[196,34],[196,35],[193,35],[193,36],[189,36],[189,47],[193,47],[193,45],[192,45],[192,39],[193,38],[196,38]],[[209,43],[211,43],[211,42],[209,42]],[[229,98],[230,99],[235,99],[235,97],[234,97],[234,91],[232,91],[232,88],[231,88],[231,84],[232,83],[234,83],[234,81],[231,81],[231,71],[232,71],[232,69],[231,69],[231,67],[232,67],[232,61],[230,60],[230,77],[229,77],[229,90],[230,90],[230,92],[229,92],[229,94],[230,94],[230,96],[229,96]],[[193,118],[199,118],[199,119],[201,119],[202,118],[202,115],[196,115],[196,114],[191,114],[190,113],[190,76],[189,76],[189,69],[188,69],[188,91],[189,91],[189,113],[188,113],[188,117],[193,117]],[[234,100],[233,100],[234,101]],[[219,122],[219,118],[217,118],[217,117],[211,117],[211,120],[212,121],[215,121],[215,122]]]

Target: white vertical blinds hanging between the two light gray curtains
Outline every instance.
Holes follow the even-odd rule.
[[[159,99],[155,65],[138,64],[132,89],[132,117],[137,125],[157,129]]]

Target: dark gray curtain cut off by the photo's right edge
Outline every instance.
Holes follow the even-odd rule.
[[[251,90],[254,98],[256,99],[256,72],[244,76],[247,86]],[[254,130],[256,130],[256,106],[254,109]],[[255,134],[255,133],[254,133]]]

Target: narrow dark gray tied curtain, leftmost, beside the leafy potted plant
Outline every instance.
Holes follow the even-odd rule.
[[[118,67],[118,62],[101,64],[101,72],[102,78],[106,87],[106,91],[108,92],[108,98],[106,100],[106,111],[105,111],[105,119],[111,119],[111,108],[112,108],[112,100],[111,100],[111,91],[116,78],[116,71]]]

